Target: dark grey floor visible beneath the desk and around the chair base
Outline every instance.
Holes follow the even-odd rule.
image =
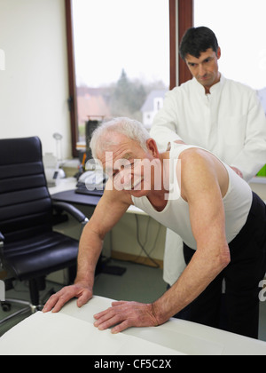
[[[119,266],[126,268],[126,272],[122,275],[116,274],[98,274],[94,286],[94,294],[106,298],[116,300],[136,300],[138,302],[153,302],[156,298],[166,290],[166,283],[162,280],[162,270],[149,266],[141,266],[135,263],[121,262],[112,260],[108,266]],[[47,290],[53,288],[59,290],[61,285],[48,282],[47,289],[43,291],[41,297],[44,296]],[[6,293],[6,298],[20,298],[27,300],[27,284],[17,282],[14,290],[9,290]],[[266,341],[266,301],[261,302],[259,339]],[[12,312],[20,309],[20,307],[12,306]],[[11,312],[11,313],[12,313]],[[3,312],[0,307],[0,320],[2,320],[8,312]],[[8,321],[4,326],[0,326],[0,337],[11,329],[16,323],[28,317],[30,313],[18,316],[12,321]]]

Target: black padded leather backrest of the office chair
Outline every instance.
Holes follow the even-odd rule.
[[[51,230],[39,138],[0,139],[0,232],[12,242]]]

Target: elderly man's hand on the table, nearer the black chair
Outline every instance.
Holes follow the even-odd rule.
[[[90,289],[87,284],[84,285],[82,282],[66,286],[48,299],[43,307],[43,313],[51,310],[52,313],[59,312],[66,302],[72,298],[78,298],[77,306],[82,307],[90,300],[90,298],[92,298],[92,289]]]

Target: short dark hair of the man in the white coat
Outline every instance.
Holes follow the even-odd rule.
[[[179,53],[183,60],[187,54],[199,59],[200,53],[206,52],[209,48],[217,54],[219,48],[217,38],[210,28],[201,26],[186,30],[179,46]]]

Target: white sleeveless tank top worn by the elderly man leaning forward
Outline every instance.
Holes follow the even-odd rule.
[[[147,197],[137,198],[132,196],[132,201],[138,208],[144,210],[148,215],[159,221],[163,226],[167,226],[179,234],[187,246],[196,250],[197,244],[192,234],[189,205],[180,195],[175,172],[176,167],[171,166],[171,163],[176,162],[179,155],[184,150],[192,147],[195,146],[180,145],[176,144],[175,142],[171,143],[169,155],[169,181],[170,185],[175,186],[175,189],[171,194],[171,197],[168,199],[168,203],[164,210],[155,210]],[[211,152],[208,153],[212,154]],[[223,163],[222,161],[220,162]],[[239,234],[241,228],[246,223],[246,219],[252,204],[252,191],[246,181],[241,179],[235,171],[231,170],[231,167],[225,163],[223,163],[223,165],[228,171],[229,175],[229,187],[227,193],[223,197],[223,205],[225,212],[225,234],[227,242],[230,243],[237,236],[237,234]]]

